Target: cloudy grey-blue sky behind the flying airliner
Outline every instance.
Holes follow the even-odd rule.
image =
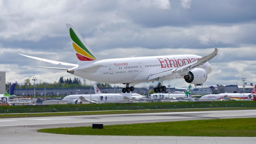
[[[102,59],[205,56],[218,48],[205,86],[242,84],[241,77],[255,84],[255,7],[253,0],[0,0],[0,71],[6,72],[6,82],[73,78],[65,71],[34,68],[54,65],[18,54],[75,64],[65,25],[71,23]],[[184,80],[170,84],[188,86]]]

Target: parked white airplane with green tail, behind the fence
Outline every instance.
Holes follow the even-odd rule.
[[[188,86],[188,88],[186,89],[186,92],[183,94],[150,94],[151,98],[169,98],[170,99],[177,99],[177,98],[190,98],[191,94],[190,94],[190,90],[191,90],[191,84]]]

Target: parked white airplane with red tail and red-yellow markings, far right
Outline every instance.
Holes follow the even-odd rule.
[[[256,85],[251,93],[207,94],[199,100],[256,100]]]

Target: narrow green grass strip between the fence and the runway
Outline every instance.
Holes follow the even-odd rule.
[[[209,110],[255,110],[256,108],[207,108],[207,109],[172,109],[172,110],[111,110],[98,112],[52,112],[36,114],[0,114],[0,118],[28,118],[28,117],[46,117],[46,116],[83,116],[83,115],[102,115],[102,114],[140,114],[140,113],[158,113],[158,112],[197,112]]]

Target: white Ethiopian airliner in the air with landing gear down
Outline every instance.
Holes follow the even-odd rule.
[[[209,60],[217,55],[217,48],[207,56],[201,57],[192,54],[147,56],[136,58],[113,58],[101,60],[86,44],[82,36],[71,24],[66,24],[72,48],[78,59],[78,64],[58,62],[34,56],[23,56],[50,62],[52,64],[69,66],[70,68],[42,67],[58,70],[66,70],[68,73],[88,80],[109,83],[125,84],[122,92],[129,93],[134,90],[134,85],[140,82],[158,82],[154,92],[166,90],[162,86],[164,80],[184,79],[190,84],[200,85],[206,81],[207,75],[212,71]]]

